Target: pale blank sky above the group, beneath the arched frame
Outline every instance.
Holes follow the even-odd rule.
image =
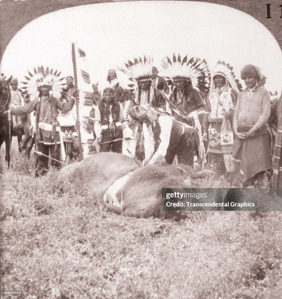
[[[246,13],[200,2],[115,2],[50,13],[14,36],[0,70],[19,81],[38,65],[73,75],[72,42],[86,51],[91,81],[100,89],[108,70],[127,59],[151,54],[161,74],[161,59],[175,52],[205,58],[211,70],[223,60],[238,79],[244,65],[257,65],[267,77],[265,87],[281,93],[282,53],[272,34]],[[126,87],[126,76],[117,74]]]

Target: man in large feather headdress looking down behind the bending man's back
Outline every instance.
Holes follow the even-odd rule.
[[[191,155],[195,148],[198,158],[203,161],[204,144],[198,114],[203,115],[204,113],[205,104],[200,93],[205,95],[208,91],[210,77],[205,60],[202,61],[194,57],[188,60],[187,57],[186,55],[181,59],[179,54],[176,58],[173,54],[172,60],[168,57],[162,60],[162,67],[165,76],[170,78],[174,86],[169,99],[172,115],[176,120],[189,125],[193,124],[198,128],[199,135],[190,132]],[[193,118],[193,122],[191,118]],[[195,147],[196,144],[198,147]]]

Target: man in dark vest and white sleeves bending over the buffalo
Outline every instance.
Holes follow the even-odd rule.
[[[129,109],[132,119],[143,123],[145,138],[146,165],[172,164],[175,155],[180,164],[193,167],[193,155],[190,153],[190,131],[162,109],[135,106]]]

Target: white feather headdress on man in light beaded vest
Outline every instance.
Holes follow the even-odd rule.
[[[212,73],[212,78],[214,79],[214,77],[217,75],[225,77],[225,79],[228,81],[228,86],[235,89],[237,92],[242,90],[241,83],[238,79],[235,79],[233,68],[228,63],[225,63],[224,61],[221,62],[220,60],[217,62]],[[214,80],[212,80],[212,85],[214,88]]]

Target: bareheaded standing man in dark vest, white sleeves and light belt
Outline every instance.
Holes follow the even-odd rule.
[[[121,153],[123,136],[132,135],[124,119],[123,107],[114,99],[112,88],[104,89],[103,99],[95,109],[94,131],[100,152],[109,152],[112,149],[112,152]]]

